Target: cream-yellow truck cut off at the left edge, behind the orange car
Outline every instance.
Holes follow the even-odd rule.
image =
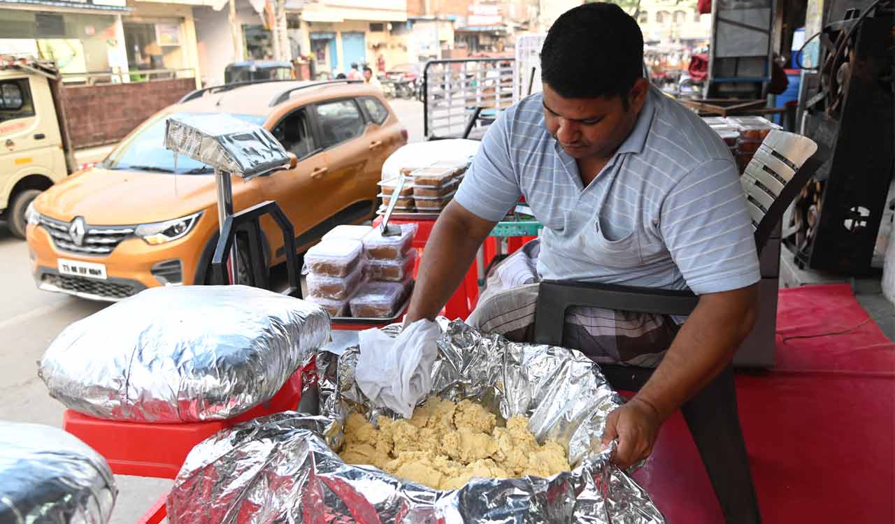
[[[76,169],[55,63],[0,55],[0,219],[25,238],[25,212]]]

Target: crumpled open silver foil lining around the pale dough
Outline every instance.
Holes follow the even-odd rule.
[[[173,524],[267,522],[664,522],[649,495],[600,451],[609,412],[622,399],[578,351],[507,342],[460,321],[441,323],[432,393],[473,399],[508,418],[529,417],[541,443],[567,446],[573,469],[550,478],[476,478],[439,491],[372,466],[345,464],[334,449],[354,410],[371,407],[354,381],[356,348],[317,357],[320,416],[256,418],[193,448],[167,499]]]

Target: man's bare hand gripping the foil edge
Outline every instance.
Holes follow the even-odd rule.
[[[628,469],[650,456],[661,423],[658,410],[649,402],[634,397],[609,413],[603,430],[603,447],[618,437],[618,448],[612,461],[619,468]]]

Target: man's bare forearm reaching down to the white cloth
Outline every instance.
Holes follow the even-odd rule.
[[[431,320],[439,314],[463,282],[476,251],[494,224],[474,216],[456,202],[447,205],[422,251],[406,325],[421,318]]]

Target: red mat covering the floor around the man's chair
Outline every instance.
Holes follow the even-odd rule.
[[[778,367],[737,375],[764,522],[895,522],[895,344],[865,318],[848,285],[780,290]],[[671,523],[723,521],[679,413],[635,478]]]

